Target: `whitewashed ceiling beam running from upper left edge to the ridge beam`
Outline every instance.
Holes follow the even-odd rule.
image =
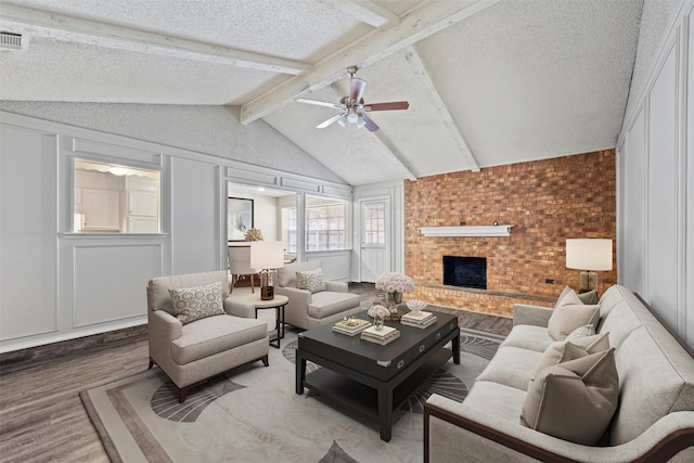
[[[0,3],[3,30],[50,37],[115,50],[195,60],[277,74],[298,75],[304,63],[267,56],[211,43],[164,36],[131,27],[48,13],[15,4]]]

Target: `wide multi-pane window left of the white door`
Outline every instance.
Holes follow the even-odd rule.
[[[347,248],[347,202],[306,196],[306,250]]]

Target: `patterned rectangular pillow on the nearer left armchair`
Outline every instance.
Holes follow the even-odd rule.
[[[169,295],[174,305],[174,314],[183,324],[226,313],[219,281],[204,286],[169,290]]]

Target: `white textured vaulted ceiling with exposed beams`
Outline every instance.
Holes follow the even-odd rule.
[[[350,184],[614,147],[643,0],[2,0],[0,99],[240,106]],[[28,44],[27,44],[28,43]],[[318,129],[359,67],[367,103]]]

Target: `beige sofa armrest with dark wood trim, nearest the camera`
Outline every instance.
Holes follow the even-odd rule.
[[[475,461],[527,461],[528,456],[544,462],[667,461],[694,451],[693,423],[693,411],[674,412],[630,442],[591,447],[557,439],[434,394],[424,404],[424,461],[461,454]]]

